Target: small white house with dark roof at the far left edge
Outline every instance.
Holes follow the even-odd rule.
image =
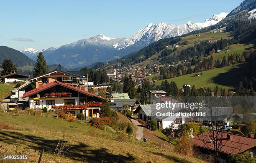
[[[20,83],[20,82],[26,82],[29,76],[18,74],[18,73],[10,73],[10,74],[1,76],[1,78],[3,80],[3,83]]]

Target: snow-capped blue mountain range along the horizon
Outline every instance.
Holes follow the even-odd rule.
[[[203,23],[188,22],[181,25],[150,23],[129,38],[110,38],[98,34],[88,39],[62,45],[59,48],[48,48],[42,50],[42,52],[49,65],[61,63],[61,65],[66,68],[77,68],[91,65],[95,62],[121,58],[124,55],[138,51],[160,39],[180,36],[194,30],[214,25],[227,15],[228,13],[212,15],[211,18],[206,19]],[[39,50],[24,48],[21,52],[29,58],[36,60],[36,55]]]

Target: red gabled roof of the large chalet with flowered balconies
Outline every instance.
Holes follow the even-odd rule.
[[[81,89],[79,89],[79,88],[76,88],[76,87],[67,85],[67,84],[65,84],[65,83],[61,83],[61,82],[59,82],[59,81],[57,81],[57,80],[55,80],[54,82],[51,82],[51,83],[49,83],[49,84],[43,85],[43,87],[41,87],[41,88],[35,88],[35,89],[33,89],[33,90],[30,90],[30,91],[24,93],[24,95],[23,95],[22,98],[29,97],[29,96],[34,95],[34,94],[36,94],[36,93],[39,93],[39,92],[41,92],[41,91],[43,91],[43,90],[52,88],[52,87],[54,87],[54,86],[56,86],[56,85],[61,85],[61,86],[63,86],[63,87],[66,87],[66,88],[75,90],[75,91],[77,91],[77,92],[79,92],[79,93],[83,93],[83,94],[88,95],[88,96],[90,96],[90,97],[96,97],[96,98],[100,98],[101,100],[106,100],[105,98],[102,98],[101,96],[98,96],[98,95],[95,95],[95,94],[93,94],[93,93],[87,92],[87,91],[85,91],[85,90],[81,90]]]

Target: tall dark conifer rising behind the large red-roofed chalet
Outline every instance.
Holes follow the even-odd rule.
[[[42,52],[39,52],[36,59],[33,77],[46,74],[48,72],[46,61]]]

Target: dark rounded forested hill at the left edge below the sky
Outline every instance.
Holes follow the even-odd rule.
[[[22,67],[26,65],[32,66],[35,63],[33,60],[18,50],[9,48],[7,46],[0,46],[0,64],[3,63],[5,58],[11,59],[16,67]]]

